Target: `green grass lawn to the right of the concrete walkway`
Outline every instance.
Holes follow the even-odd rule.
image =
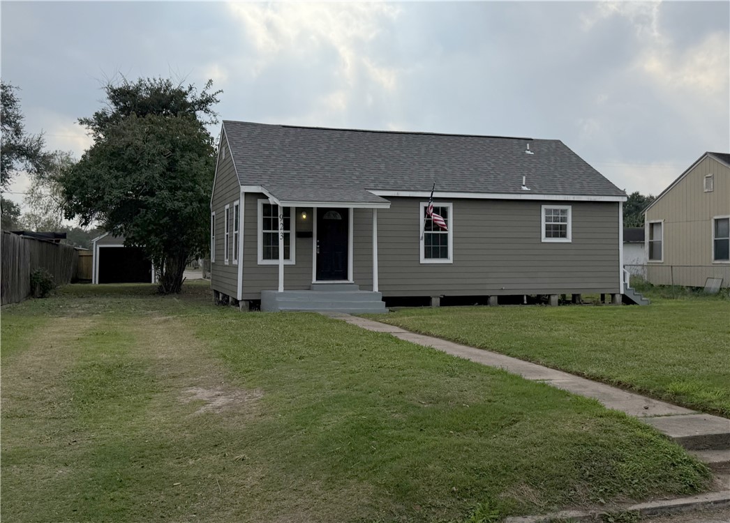
[[[372,319],[730,417],[730,301],[401,309]]]

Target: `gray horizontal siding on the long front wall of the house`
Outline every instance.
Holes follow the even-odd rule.
[[[244,299],[278,286],[278,267],[258,265],[259,198],[264,195],[245,198]],[[454,200],[453,263],[421,264],[420,198],[389,199],[391,209],[377,212],[385,296],[620,292],[617,203]],[[572,206],[571,243],[542,242],[542,204]],[[371,290],[372,210],[353,212],[354,281]],[[296,239],[296,265],[285,266],[284,274],[285,289],[310,288],[311,238]]]

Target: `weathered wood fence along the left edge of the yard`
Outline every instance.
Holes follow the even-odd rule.
[[[70,245],[53,244],[2,231],[0,303],[18,303],[33,292],[31,274],[45,268],[53,274],[56,284],[66,284],[76,278],[78,255]]]

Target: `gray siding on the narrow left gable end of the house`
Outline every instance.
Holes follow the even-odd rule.
[[[238,266],[233,265],[233,253],[229,255],[228,265],[224,260],[224,242],[225,242],[225,224],[226,224],[226,205],[231,206],[231,222],[230,222],[230,244],[233,245],[233,204],[240,197],[240,185],[236,171],[234,170],[233,161],[231,160],[231,152],[226,145],[226,135],[221,134],[221,142],[219,149],[225,148],[225,158],[218,163],[218,170],[215,174],[215,183],[213,184],[212,195],[212,212],[215,212],[215,262],[210,264],[210,287],[212,290],[218,290],[228,296],[236,298],[238,293]],[[232,249],[232,247],[231,247]]]

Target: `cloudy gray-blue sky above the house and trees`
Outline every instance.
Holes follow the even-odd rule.
[[[228,120],[561,139],[629,192],[730,151],[728,1],[0,9],[0,72],[26,129],[77,157],[91,144],[77,118],[120,77],[210,78]]]

